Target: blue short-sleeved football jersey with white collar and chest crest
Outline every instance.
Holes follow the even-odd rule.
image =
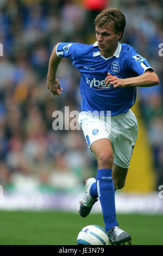
[[[108,72],[118,78],[130,78],[143,74],[151,68],[145,58],[133,47],[118,43],[113,56],[104,58],[95,44],[59,43],[57,55],[72,59],[80,74],[82,111],[111,111],[111,116],[127,112],[136,100],[136,86],[106,86]]]

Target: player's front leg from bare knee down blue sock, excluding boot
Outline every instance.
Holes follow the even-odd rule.
[[[97,192],[101,202],[105,230],[118,226],[115,210],[115,190],[112,182],[113,152],[109,139],[101,139],[93,142],[91,151],[98,162],[96,176]]]

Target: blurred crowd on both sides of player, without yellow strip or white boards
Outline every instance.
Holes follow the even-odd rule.
[[[59,41],[87,43],[100,10],[83,1],[1,0],[0,43],[0,184],[4,188],[71,190],[96,175],[96,161],[81,130],[53,130],[53,112],[69,106],[80,111],[80,75],[62,59],[58,79],[64,93],[54,97],[46,87],[48,61]],[[159,75],[161,85],[139,88],[142,118],[154,155],[158,184],[163,184],[162,63],[163,2],[116,1],[127,19],[123,42]],[[107,5],[108,6],[108,5]],[[94,32],[93,32],[94,33]],[[96,39],[95,39],[96,40]],[[93,42],[92,42],[93,43]],[[161,183],[160,183],[161,182]]]

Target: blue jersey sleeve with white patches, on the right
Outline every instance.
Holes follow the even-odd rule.
[[[129,68],[134,75],[142,75],[147,69],[153,70],[147,59],[139,55],[134,49],[130,52]]]

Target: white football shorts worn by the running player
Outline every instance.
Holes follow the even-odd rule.
[[[129,167],[138,131],[137,120],[131,110],[107,118],[82,111],[78,122],[89,147],[96,140],[108,138],[112,144],[114,163],[122,168]]]

